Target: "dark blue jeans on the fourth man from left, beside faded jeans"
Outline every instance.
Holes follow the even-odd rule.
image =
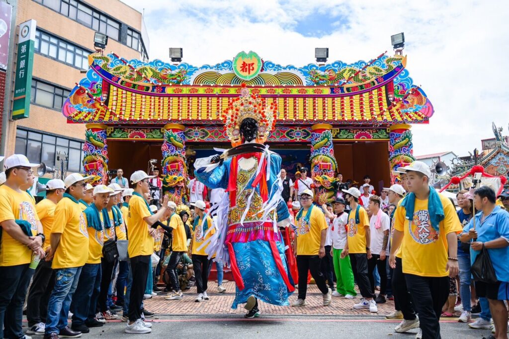
[[[101,288],[101,272],[101,264],[85,264],[82,267],[71,303],[73,326],[87,324],[94,319]]]

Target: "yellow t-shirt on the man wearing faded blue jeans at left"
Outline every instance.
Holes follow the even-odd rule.
[[[89,259],[89,232],[85,215],[69,198],[62,198],[55,208],[52,233],[61,233],[51,267],[72,268],[83,266]]]

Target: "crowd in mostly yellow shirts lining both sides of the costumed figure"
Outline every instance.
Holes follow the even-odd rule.
[[[1,337],[78,337],[119,318],[126,333],[150,333],[146,318],[154,314],[144,300],[157,294],[180,300],[191,286],[195,302],[209,300],[214,263],[216,291],[225,291],[223,264],[206,251],[217,232],[208,210],[224,189],[193,178],[182,207],[162,195],[157,169],[135,171],[129,180],[119,169],[108,186],[92,187],[91,177],[78,173],[49,180],[36,204],[30,189],[38,166],[13,155],[0,176]],[[292,220],[280,226],[290,248],[280,252],[291,272],[285,284],[298,288],[292,306],[306,306],[313,278],[325,306],[343,297],[353,309],[377,313],[377,304],[394,300],[386,318],[401,320],[396,332],[419,328],[417,338],[439,338],[440,317],[461,312],[459,321],[469,327],[507,337],[509,191],[498,197],[486,186],[460,191],[456,210],[430,187],[429,167],[414,162],[398,169],[399,183],[380,195],[366,175],[360,190],[350,181],[338,186],[331,204],[319,206],[307,174],[304,167],[294,180],[279,173]],[[337,179],[341,184],[341,173]],[[491,280],[472,279],[479,253],[491,259]],[[259,316],[258,300],[246,300],[246,317]]]

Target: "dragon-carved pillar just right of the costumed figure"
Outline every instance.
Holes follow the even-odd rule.
[[[315,186],[315,201],[322,205],[334,196],[334,173],[337,163],[332,144],[332,126],[316,124],[311,132],[311,178]]]

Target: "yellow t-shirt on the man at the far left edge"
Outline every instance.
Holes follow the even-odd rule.
[[[5,184],[0,186],[0,223],[6,220],[26,220],[32,225],[32,235],[37,234],[36,208],[26,192],[16,192]],[[28,264],[32,260],[32,250],[2,231],[0,243],[0,266]]]

